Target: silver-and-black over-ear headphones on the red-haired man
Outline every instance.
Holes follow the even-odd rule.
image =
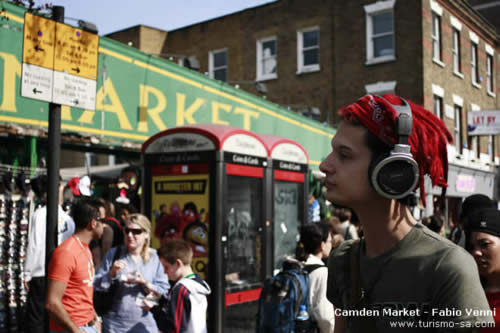
[[[369,177],[378,194],[388,199],[401,199],[413,192],[419,178],[418,164],[411,155],[408,142],[413,122],[411,108],[402,98],[403,105],[394,105],[383,97],[377,97],[385,100],[398,113],[398,143],[389,155],[379,156],[372,162]]]

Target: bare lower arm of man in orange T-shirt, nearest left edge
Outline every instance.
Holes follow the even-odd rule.
[[[62,303],[65,291],[66,283],[49,279],[45,309],[47,309],[49,316],[68,332],[81,332],[80,328],[71,320]]]

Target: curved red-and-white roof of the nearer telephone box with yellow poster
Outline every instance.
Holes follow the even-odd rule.
[[[208,138],[214,144],[216,150],[227,150],[243,154],[245,153],[244,151],[237,151],[238,147],[234,145],[234,139],[237,137],[245,137],[251,140],[252,143],[256,146],[254,153],[251,155],[257,155],[261,157],[267,157],[269,155],[269,151],[264,144],[264,141],[257,134],[241,128],[218,124],[197,124],[180,126],[160,132],[143,143],[142,153],[150,153],[151,151],[148,151],[148,147],[157,140],[161,140],[166,136],[178,133],[199,134],[205,138]]]

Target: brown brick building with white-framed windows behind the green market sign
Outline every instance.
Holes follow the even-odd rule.
[[[499,137],[469,137],[467,114],[500,109],[500,39],[470,2],[280,0],[168,35],[136,26],[108,37],[161,47],[143,50],[174,61],[196,56],[201,72],[256,94],[254,83],[265,83],[268,100],[332,125],[340,106],[366,93],[423,104],[455,137],[448,199],[428,191],[436,205],[426,213],[441,208],[455,219],[472,192],[498,200]],[[156,44],[155,35],[162,36]]]

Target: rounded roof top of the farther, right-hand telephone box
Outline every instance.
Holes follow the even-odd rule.
[[[259,134],[259,137],[264,141],[269,151],[269,157],[272,159],[302,164],[309,163],[309,155],[300,143],[269,134]]]

